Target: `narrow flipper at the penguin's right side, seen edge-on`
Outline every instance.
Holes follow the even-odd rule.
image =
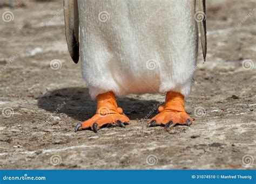
[[[201,46],[202,46],[203,56],[204,56],[204,61],[205,61],[206,60],[206,52],[207,52],[205,0],[199,0],[199,11],[203,12],[203,14],[204,14],[204,18],[200,22],[199,30],[200,30]]]

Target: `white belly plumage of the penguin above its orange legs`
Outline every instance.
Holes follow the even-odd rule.
[[[190,94],[195,1],[78,1],[80,60],[90,94]]]

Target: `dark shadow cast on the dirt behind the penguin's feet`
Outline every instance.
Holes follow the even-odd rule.
[[[118,98],[119,107],[131,120],[151,118],[156,115],[159,101],[138,100],[135,98]],[[96,101],[93,101],[87,88],[63,88],[50,91],[38,98],[38,107],[55,114],[64,113],[78,121],[85,121],[96,111]]]

